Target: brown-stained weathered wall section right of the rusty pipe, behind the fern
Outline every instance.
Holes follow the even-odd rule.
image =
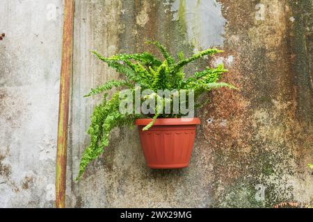
[[[306,165],[313,145],[312,36],[307,28],[312,27],[312,1],[78,2],[69,162],[69,185],[76,199],[69,206],[310,203],[313,182]],[[88,116],[97,102],[82,96],[118,76],[88,50],[104,56],[150,50],[153,47],[144,44],[150,39],[163,42],[172,53],[219,45],[225,53],[202,66],[224,61],[230,69],[226,80],[241,92],[214,92],[211,102],[199,110],[202,125],[188,169],[148,169],[136,129],[125,128],[115,131],[111,146],[81,182],[72,182],[88,144]]]

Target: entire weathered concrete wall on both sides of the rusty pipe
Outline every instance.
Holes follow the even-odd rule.
[[[0,32],[8,34],[0,42],[0,206],[51,207],[61,1],[0,1]],[[55,20],[49,3],[57,6]],[[77,0],[74,26],[68,207],[312,202],[312,0]],[[198,110],[202,124],[187,169],[148,169],[136,129],[122,128],[73,182],[99,102],[83,95],[118,78],[89,51],[155,52],[145,40],[187,55],[219,46],[223,54],[187,72],[224,62],[230,69],[225,80],[241,91],[212,92]]]

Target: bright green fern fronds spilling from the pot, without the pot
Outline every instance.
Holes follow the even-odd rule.
[[[197,53],[190,58],[185,58],[184,53],[177,54],[178,61],[176,62],[166,47],[159,42],[147,42],[154,44],[159,49],[164,59],[159,60],[157,57],[150,53],[134,53],[134,54],[118,54],[106,58],[101,56],[96,51],[93,51],[95,56],[106,62],[109,67],[115,69],[122,75],[122,80],[111,80],[103,85],[99,85],[86,96],[93,96],[95,94],[104,93],[103,101],[95,107],[91,116],[91,123],[88,129],[90,135],[90,144],[83,152],[79,166],[79,174],[77,180],[81,178],[88,164],[95,160],[104,151],[104,148],[109,146],[109,135],[111,130],[115,127],[131,126],[134,120],[138,118],[151,118],[151,121],[143,130],[149,130],[157,120],[157,118],[179,118],[182,113],[174,113],[173,109],[170,114],[162,114],[166,103],[173,104],[174,96],[170,99],[164,99],[157,94],[158,89],[168,89],[172,91],[177,89],[177,93],[181,89],[194,89],[195,99],[199,98],[204,92],[209,92],[211,89],[218,89],[220,87],[228,87],[236,89],[234,85],[229,83],[219,83],[223,73],[227,72],[223,65],[214,69],[207,67],[204,71],[195,72],[189,78],[185,78],[184,66],[188,63],[198,60],[204,56],[213,56],[215,53],[222,51],[218,49],[207,49]],[[157,100],[161,101],[161,107],[158,105],[155,108],[154,114],[124,114],[119,110],[120,106],[120,91],[116,91],[111,98],[108,97],[108,92],[113,87],[126,87],[131,89],[134,94],[136,85],[141,86],[141,90],[151,89],[153,94],[141,98],[142,101],[147,97],[154,96]],[[182,102],[182,101],[181,101]],[[188,98],[186,101],[188,102]]]

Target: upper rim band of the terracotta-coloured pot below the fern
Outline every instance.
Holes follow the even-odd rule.
[[[146,126],[152,121],[152,119],[136,119],[135,125],[138,126]],[[199,125],[200,119],[199,118],[160,118],[157,119],[154,123],[154,126],[157,125]]]

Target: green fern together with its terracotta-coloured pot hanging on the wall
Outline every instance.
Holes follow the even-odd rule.
[[[121,80],[111,80],[92,89],[86,96],[103,93],[102,103],[91,116],[90,145],[81,157],[79,175],[83,175],[90,162],[109,145],[109,135],[115,127],[138,126],[141,146],[147,166],[155,169],[188,167],[195,139],[195,128],[200,119],[194,118],[193,108],[204,92],[219,87],[235,89],[233,85],[218,83],[227,69],[223,65],[195,72],[186,78],[184,66],[203,56],[213,56],[222,51],[207,49],[191,58],[184,53],[177,61],[159,42],[154,44],[164,60],[150,53],[118,54],[104,58],[95,56],[121,74]],[[109,90],[117,90],[109,96]],[[187,108],[188,104],[188,108]]]

